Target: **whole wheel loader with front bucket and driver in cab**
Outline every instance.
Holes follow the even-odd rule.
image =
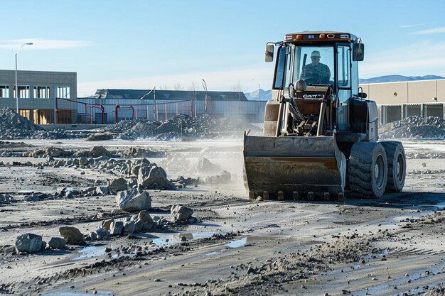
[[[377,141],[377,105],[358,85],[364,50],[357,36],[333,31],[267,43],[266,62],[276,60],[272,99],[262,136],[244,136],[250,199],[343,201],[402,190],[402,143]]]

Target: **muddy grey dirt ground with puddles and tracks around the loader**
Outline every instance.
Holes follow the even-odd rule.
[[[0,154],[90,145],[80,140],[12,141],[0,145]],[[166,167],[171,178],[205,177],[193,169],[204,156],[230,172],[232,179],[148,190],[151,216],[168,218],[169,206],[180,204],[194,210],[196,223],[113,236],[65,250],[4,252],[0,294],[445,295],[445,141],[404,141],[409,159],[403,192],[345,202],[250,201],[242,185],[242,140],[119,140],[100,145],[109,150],[141,147],[187,158],[188,166]],[[416,158],[419,153],[439,156]],[[149,160],[166,163],[165,158]],[[0,204],[0,246],[12,246],[26,233],[48,241],[60,236],[58,229],[65,225],[87,234],[104,219],[131,216],[112,212],[117,209],[114,195],[23,201],[30,192],[87,188],[97,180],[104,184],[117,177],[112,173],[6,165],[41,163],[43,158],[1,161],[5,165],[0,165],[0,194],[9,193],[17,202]]]

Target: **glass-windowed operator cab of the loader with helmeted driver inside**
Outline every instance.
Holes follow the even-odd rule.
[[[349,33],[287,34],[278,46],[273,89],[282,89],[284,96],[289,97],[286,88],[302,79],[307,85],[306,97],[316,97],[316,89],[329,85],[336,95],[337,131],[366,133],[365,124],[360,131],[360,124],[353,124],[358,119],[354,118],[354,102],[362,101],[358,92],[358,61],[363,60],[363,50],[360,40]],[[359,111],[368,108],[366,104],[360,108],[360,102],[355,105]],[[366,116],[365,112],[361,118]]]

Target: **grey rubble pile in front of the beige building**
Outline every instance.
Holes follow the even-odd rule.
[[[445,119],[439,117],[409,116],[379,128],[380,139],[413,138],[445,139]]]

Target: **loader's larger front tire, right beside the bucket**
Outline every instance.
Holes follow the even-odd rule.
[[[348,160],[348,183],[354,197],[382,197],[387,183],[387,158],[380,143],[353,145]]]

